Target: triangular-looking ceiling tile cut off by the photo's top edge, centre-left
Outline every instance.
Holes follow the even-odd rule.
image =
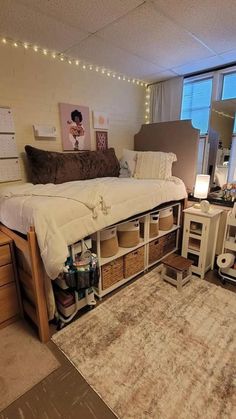
[[[67,25],[94,33],[130,12],[143,0],[18,0]]]

